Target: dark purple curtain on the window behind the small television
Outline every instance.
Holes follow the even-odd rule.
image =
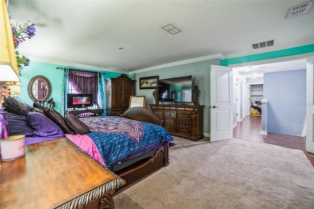
[[[69,83],[80,94],[93,94],[94,104],[98,104],[97,76],[96,72],[69,69]]]

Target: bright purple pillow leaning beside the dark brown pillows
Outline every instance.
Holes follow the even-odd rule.
[[[28,112],[26,115],[27,124],[35,129],[34,134],[45,137],[63,137],[63,131],[46,115],[39,112]]]

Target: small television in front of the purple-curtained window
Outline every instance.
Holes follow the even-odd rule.
[[[87,106],[93,106],[92,94],[68,94],[68,108],[84,108]]]

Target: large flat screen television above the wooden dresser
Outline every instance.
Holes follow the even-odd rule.
[[[192,76],[160,79],[158,101],[172,103],[192,102]]]

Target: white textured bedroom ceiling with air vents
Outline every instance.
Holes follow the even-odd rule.
[[[309,0],[10,0],[18,24],[36,35],[20,45],[33,61],[125,72],[222,54],[251,54],[314,43],[314,6],[286,19]],[[160,28],[168,23],[181,32]],[[253,50],[252,44],[274,40]],[[118,48],[124,48],[119,50]]]

